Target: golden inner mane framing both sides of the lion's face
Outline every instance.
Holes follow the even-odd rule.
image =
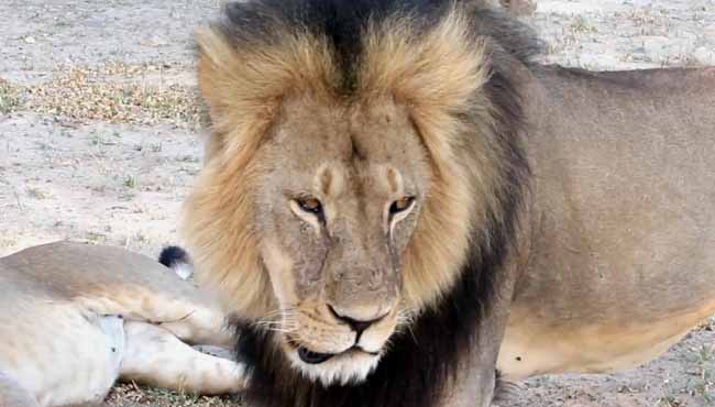
[[[479,224],[486,208],[495,207],[490,198],[502,182],[492,170],[501,157],[491,134],[492,106],[485,96],[474,97],[490,75],[488,58],[469,30],[457,9],[428,35],[414,32],[408,18],[371,26],[351,101],[394,98],[409,107],[430,153],[435,177],[403,264],[405,297],[417,310],[452,287],[470,245],[470,224]],[[201,283],[246,318],[276,308],[264,295],[270,282],[260,272],[261,237],[252,224],[251,196],[261,178],[256,150],[292,95],[310,92],[328,106],[342,103],[334,90],[341,79],[324,41],[293,32],[279,37],[283,42],[268,48],[235,48],[218,30],[198,32],[199,84],[211,111],[212,135],[206,167],[186,202],[183,234],[202,271]],[[482,127],[483,136],[469,146],[474,153],[469,163],[454,153],[463,147],[464,124],[454,120],[459,113],[477,114]]]

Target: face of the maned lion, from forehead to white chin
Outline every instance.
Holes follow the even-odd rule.
[[[400,254],[429,166],[407,114],[389,101],[288,101],[258,151],[261,257],[293,365],[323,383],[361,381],[399,324]]]

